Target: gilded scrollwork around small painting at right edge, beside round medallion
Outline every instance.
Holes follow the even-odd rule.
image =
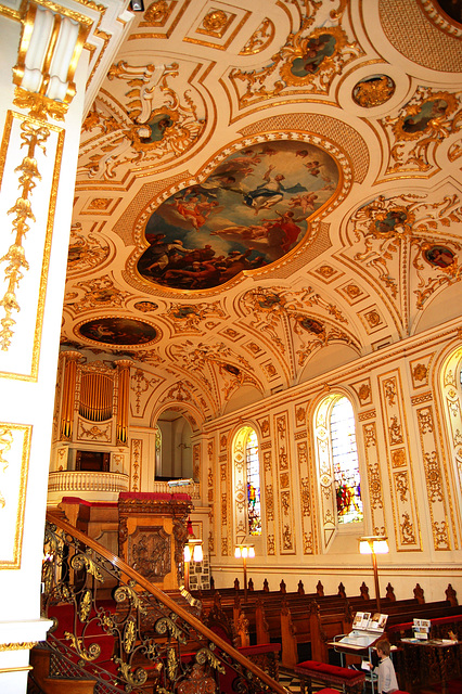
[[[431,152],[462,126],[461,93],[434,92],[419,87],[398,116],[382,126],[393,140],[387,174],[428,171],[435,166]]]

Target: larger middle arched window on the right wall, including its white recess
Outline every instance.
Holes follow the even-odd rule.
[[[326,549],[337,531],[363,520],[355,414],[344,395],[329,395],[318,406],[315,445]]]

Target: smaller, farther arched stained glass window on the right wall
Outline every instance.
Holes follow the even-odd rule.
[[[261,491],[258,436],[242,427],[233,442],[233,488],[236,541],[261,536]]]

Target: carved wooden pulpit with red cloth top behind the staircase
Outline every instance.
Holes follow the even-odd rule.
[[[187,520],[192,507],[185,493],[119,494],[119,556],[162,590],[182,584]]]

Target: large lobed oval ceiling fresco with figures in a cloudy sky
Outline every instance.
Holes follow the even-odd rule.
[[[333,157],[305,142],[241,150],[153,213],[138,271],[192,291],[274,262],[303,240],[307,218],[335,194],[338,178]]]

